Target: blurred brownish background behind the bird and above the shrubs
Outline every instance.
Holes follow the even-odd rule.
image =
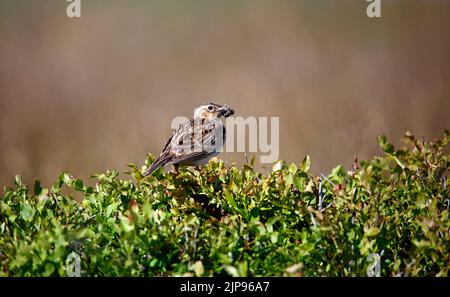
[[[0,185],[142,165],[209,100],[278,116],[280,159],[315,173],[381,154],[380,134],[440,137],[450,1],[381,2],[370,19],[363,0],[81,0],[69,19],[64,0],[0,0]]]

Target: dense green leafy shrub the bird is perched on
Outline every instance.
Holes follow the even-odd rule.
[[[216,160],[144,179],[130,164],[132,180],[94,187],[17,176],[0,198],[0,275],[64,276],[76,255],[82,276],[448,276],[450,133],[405,140],[380,137],[383,156],[328,176],[309,157],[268,175]]]

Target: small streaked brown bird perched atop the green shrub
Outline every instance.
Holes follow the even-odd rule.
[[[213,102],[194,109],[192,119],[175,129],[144,176],[165,165],[173,165],[175,172],[178,172],[179,165],[202,166],[208,163],[209,159],[220,153],[226,140],[226,129],[221,118],[233,114],[232,108]]]

